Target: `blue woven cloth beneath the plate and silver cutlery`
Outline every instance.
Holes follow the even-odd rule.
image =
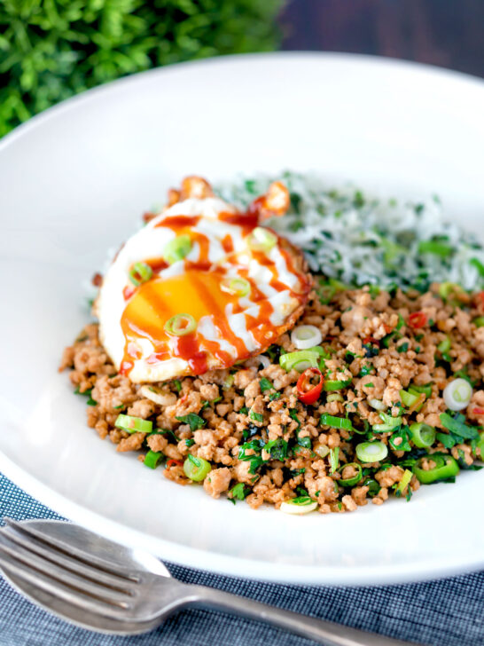
[[[59,518],[0,474],[0,518]],[[255,583],[168,563],[174,577],[292,611],[433,646],[484,645],[484,572],[386,587]],[[218,612],[183,611],[152,633],[90,633],[51,617],[0,577],[0,646],[311,646],[313,642]]]

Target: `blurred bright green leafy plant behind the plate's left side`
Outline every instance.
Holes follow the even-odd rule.
[[[277,47],[283,0],[0,0],[0,136],[122,75]]]

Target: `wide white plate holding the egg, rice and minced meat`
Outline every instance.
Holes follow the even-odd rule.
[[[464,75],[275,54],[132,76],[4,138],[0,469],[92,530],[206,570],[366,584],[484,565],[484,471],[355,514],[234,507],[115,453],[56,371],[87,318],[82,280],[183,175],[316,169],[386,193],[440,193],[449,217],[475,229],[483,114],[483,83]]]

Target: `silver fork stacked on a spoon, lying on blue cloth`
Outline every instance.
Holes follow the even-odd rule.
[[[15,522],[0,529],[0,570],[13,587],[45,610],[78,626],[138,634],[188,605],[267,621],[333,646],[404,646],[400,642],[303,617],[211,587],[172,579],[155,556],[129,549],[61,521]]]

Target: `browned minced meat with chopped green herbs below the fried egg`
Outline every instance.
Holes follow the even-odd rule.
[[[411,470],[417,461],[429,471],[435,454],[451,456],[461,469],[484,458],[484,327],[473,322],[483,311],[481,295],[445,301],[438,285],[423,295],[362,288],[321,298],[313,292],[298,325],[319,328],[324,381],[340,387],[323,390],[312,405],[300,400],[301,375],[279,365],[281,354],[296,350],[289,334],[264,354],[269,365],[250,358],[230,370],[151,384],[157,401],[146,386],[116,374],[96,324],[66,348],[60,369],[70,368],[76,392],[90,398],[88,425],[99,437],[109,437],[120,452],[140,451],[142,461],[148,451],[160,454],[165,477],[178,484],[194,484],[183,469],[190,454],[210,463],[202,484],[214,498],[279,508],[310,497],[321,513],[354,511],[369,500],[380,505],[392,492],[410,499],[420,485]],[[447,411],[442,394],[457,376],[473,385],[462,415]],[[412,385],[428,390],[414,391],[409,403]],[[464,424],[460,435],[442,421],[446,412]],[[116,427],[119,414],[152,421],[153,432],[129,434]],[[324,423],[324,414],[351,426]],[[432,446],[415,444],[415,422],[436,429]],[[372,440],[386,445],[386,458],[358,460],[356,445]]]

